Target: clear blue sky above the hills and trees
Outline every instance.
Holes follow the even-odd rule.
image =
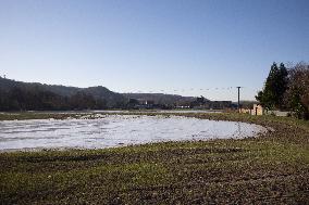
[[[22,81],[254,100],[308,56],[308,0],[0,0],[0,75]]]

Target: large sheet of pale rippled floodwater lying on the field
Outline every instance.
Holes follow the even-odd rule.
[[[267,129],[252,124],[182,116],[102,115],[89,119],[0,121],[0,151],[102,149],[162,141],[255,137]]]

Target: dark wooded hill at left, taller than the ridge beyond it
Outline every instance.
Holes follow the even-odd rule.
[[[0,110],[121,108],[127,99],[104,87],[77,88],[0,77]]]

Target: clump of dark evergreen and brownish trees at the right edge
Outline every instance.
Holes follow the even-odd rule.
[[[309,119],[309,65],[273,63],[256,99],[267,110],[291,111],[298,118]]]

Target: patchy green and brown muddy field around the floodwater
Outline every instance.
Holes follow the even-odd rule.
[[[0,119],[54,117],[32,115]],[[275,131],[243,140],[1,153],[0,204],[309,204],[308,121],[185,115]]]

